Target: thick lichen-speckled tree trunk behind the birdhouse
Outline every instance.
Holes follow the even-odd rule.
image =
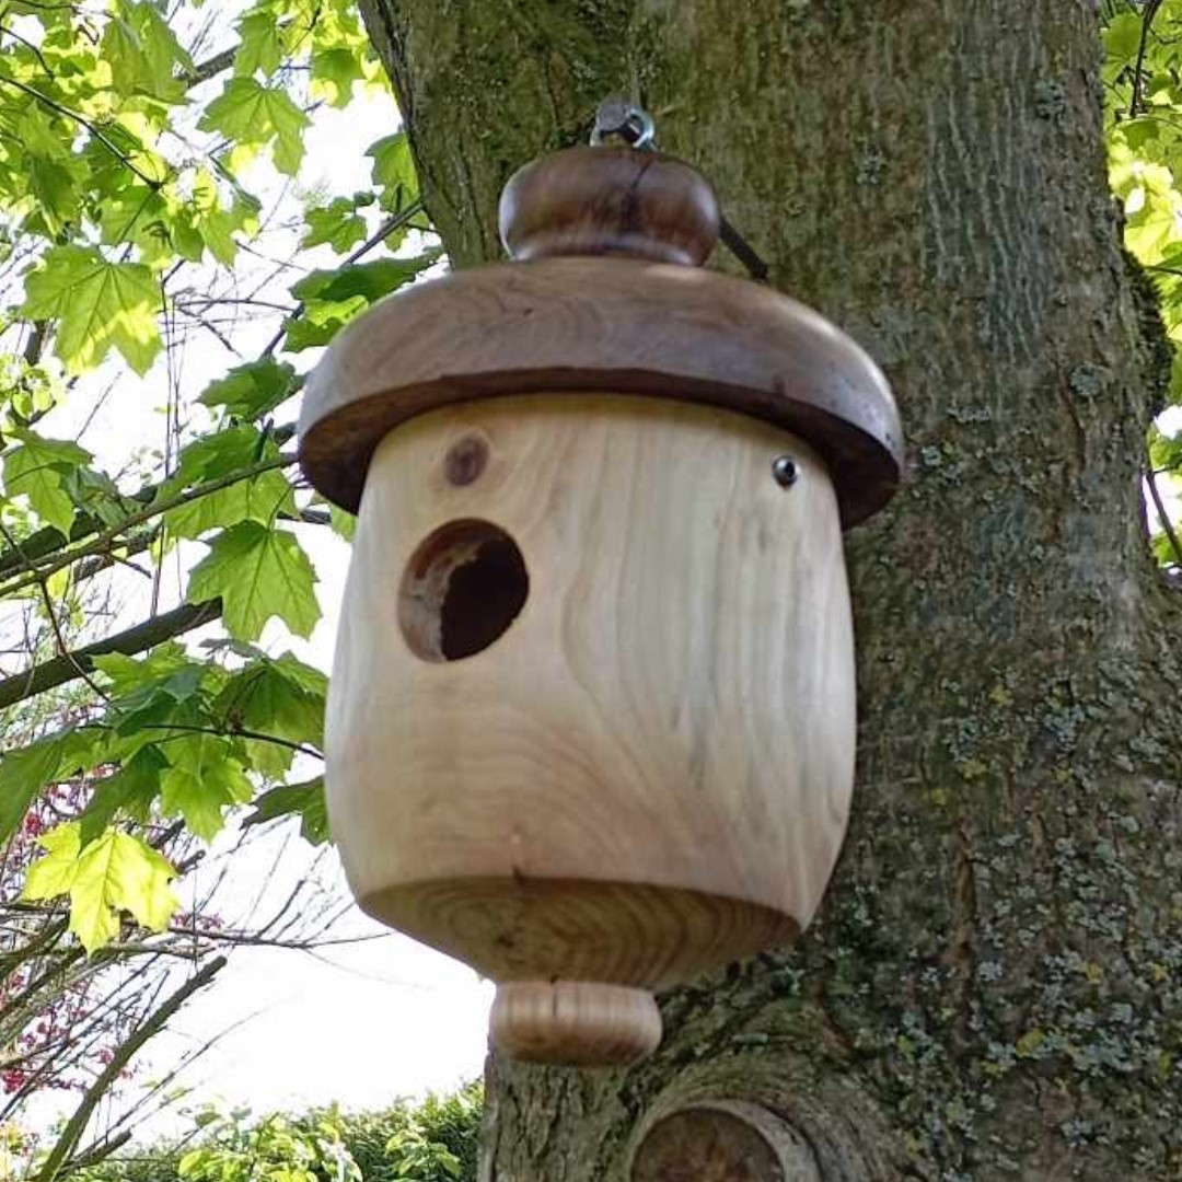
[[[847,540],[859,764],[820,920],[664,998],[631,1071],[494,1063],[485,1177],[797,1176],[691,1148],[755,1110],[826,1182],[1182,1177],[1182,674],[1139,493],[1168,358],[1108,194],[1095,4],[363,7],[457,265],[498,255],[513,169],[631,93],[875,355],[911,465]],[[733,1111],[686,1124],[696,1171],[636,1162],[706,1100]]]

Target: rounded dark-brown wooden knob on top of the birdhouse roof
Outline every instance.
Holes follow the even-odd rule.
[[[515,173],[501,194],[501,241],[518,261],[619,254],[703,264],[719,203],[701,173],[631,148],[570,148]]]

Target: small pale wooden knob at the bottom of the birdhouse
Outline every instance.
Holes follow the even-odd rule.
[[[509,981],[496,989],[493,1046],[525,1063],[615,1067],[661,1043],[652,994],[599,981]]]

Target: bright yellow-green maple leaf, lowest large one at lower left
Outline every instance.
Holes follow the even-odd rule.
[[[167,858],[130,833],[108,830],[85,849],[78,821],[38,838],[47,852],[28,869],[22,898],[70,896],[70,930],[87,953],[119,934],[119,913],[162,931],[180,907],[170,889],[176,871]]]

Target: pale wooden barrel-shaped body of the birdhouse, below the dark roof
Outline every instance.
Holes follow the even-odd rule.
[[[474,519],[517,543],[527,597],[491,647],[424,660],[404,572]],[[365,483],[333,833],[370,914],[498,981],[660,987],[811,918],[845,829],[853,688],[837,500],[800,440],[612,395],[430,411]]]

